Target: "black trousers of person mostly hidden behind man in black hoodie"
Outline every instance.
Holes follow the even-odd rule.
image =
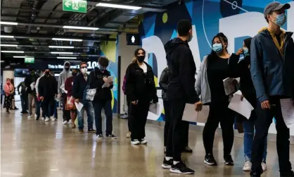
[[[170,129],[170,102],[167,102],[166,100],[163,101],[163,106],[165,108],[165,128],[164,128],[164,145],[165,147],[167,146],[167,137],[168,137],[168,132]],[[183,128],[183,135],[181,136],[183,142],[183,148],[188,146],[188,129],[189,129],[189,124],[184,123],[184,128]]]

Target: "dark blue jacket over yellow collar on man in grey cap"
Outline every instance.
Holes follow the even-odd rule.
[[[294,98],[293,32],[282,30],[279,44],[276,36],[262,28],[251,42],[250,72],[260,102],[271,96]]]

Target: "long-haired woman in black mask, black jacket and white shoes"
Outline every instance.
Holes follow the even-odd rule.
[[[146,51],[136,49],[135,58],[126,72],[125,92],[129,98],[132,114],[132,145],[146,144],[145,125],[151,101],[158,102],[154,74],[151,66],[144,62]]]

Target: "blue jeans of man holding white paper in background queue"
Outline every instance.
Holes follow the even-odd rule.
[[[93,128],[94,123],[94,109],[93,105],[89,101],[82,101],[81,102],[84,106],[82,107],[81,111],[77,114],[77,121],[79,130],[84,129],[84,110],[86,109],[87,116],[88,116],[88,130]]]

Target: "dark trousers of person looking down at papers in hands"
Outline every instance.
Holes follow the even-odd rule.
[[[113,110],[111,109],[111,100],[93,102],[95,111],[95,126],[96,135],[102,134],[102,116],[101,112],[104,109],[106,114],[106,135],[113,133]]]

